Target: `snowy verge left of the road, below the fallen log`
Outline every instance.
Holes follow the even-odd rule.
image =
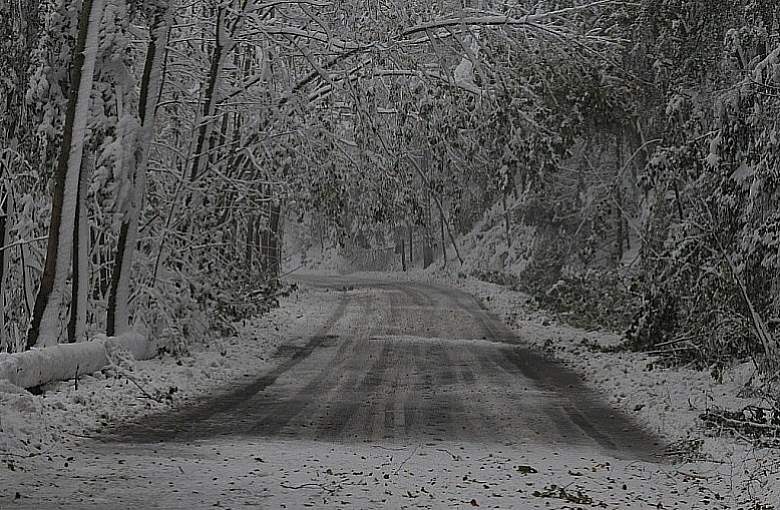
[[[0,379],[0,461],[62,451],[70,440],[91,435],[105,424],[186,405],[204,393],[257,375],[270,366],[283,341],[311,336],[335,309],[335,300],[320,294],[301,290],[281,298],[280,308],[237,324],[238,335],[204,339],[188,356],[145,361],[115,356],[115,366],[79,377],[78,387],[70,378],[48,385],[44,395],[34,397]],[[83,344],[58,347],[72,345]]]

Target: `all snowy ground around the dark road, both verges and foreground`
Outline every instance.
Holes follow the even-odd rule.
[[[215,340],[178,361],[167,357],[127,367],[143,391],[125,375],[110,374],[84,377],[78,390],[73,381],[59,383],[43,397],[0,387],[0,508],[765,510],[779,500],[776,452],[710,438],[698,425],[698,413],[708,406],[750,402],[734,397],[749,367],[729,371],[723,384],[706,373],[650,370],[647,356],[586,348],[583,338],[602,344],[617,339],[558,325],[529,309],[520,293],[441,274],[382,277],[446,281],[473,293],[523,340],[571,363],[647,428],[680,441],[677,448],[700,446],[677,463],[621,460],[589,448],[527,441],[343,444],[243,437],[83,447],[80,436],[107,423],[171,401],[193,401],[270,367],[276,347],[313,335],[336,308],[332,293],[302,290],[246,324],[237,338]],[[268,364],[258,365],[258,359]],[[177,390],[163,403],[144,394],[159,397],[171,388]]]

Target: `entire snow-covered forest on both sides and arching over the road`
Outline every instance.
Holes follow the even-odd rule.
[[[0,352],[186,351],[273,305],[290,225],[457,272],[492,211],[522,263],[480,278],[778,375],[773,0],[2,0],[0,37]]]

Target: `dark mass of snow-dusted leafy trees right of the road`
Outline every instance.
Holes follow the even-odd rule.
[[[470,181],[437,190],[449,193],[448,214],[466,232],[487,211],[475,247],[474,232],[463,239],[466,270],[678,362],[757,356],[771,366],[777,6],[645,0],[568,21],[568,36],[589,26],[612,44],[591,48],[592,60],[559,57],[544,39],[502,52],[483,29],[482,72],[495,72],[487,83],[501,84],[501,106],[464,94],[451,112],[434,107],[434,159],[465,154],[449,175]],[[464,134],[475,133],[469,146]]]

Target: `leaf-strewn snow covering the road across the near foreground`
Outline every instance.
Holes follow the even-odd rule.
[[[104,445],[96,458],[58,459],[36,473],[55,488],[20,486],[26,475],[11,475],[0,498],[18,493],[12,508],[728,508],[671,466],[572,448],[447,441],[222,439],[159,445],[154,453]]]

